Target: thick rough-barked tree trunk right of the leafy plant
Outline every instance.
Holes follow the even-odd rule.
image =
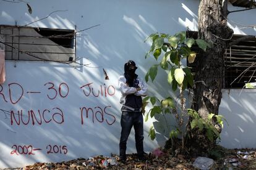
[[[210,42],[197,58],[192,108],[202,118],[218,114],[223,87],[224,52],[233,30],[227,26],[228,9],[224,0],[201,0],[198,9],[198,38]]]

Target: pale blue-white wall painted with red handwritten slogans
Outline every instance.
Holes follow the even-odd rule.
[[[20,167],[35,162],[57,162],[80,157],[86,158],[98,154],[118,154],[121,131],[121,113],[119,110],[121,106],[119,105],[120,92],[117,88],[117,78],[123,73],[124,62],[129,59],[135,60],[139,66],[137,73],[144,77],[149,66],[155,63],[153,59],[144,59],[145,53],[150,47],[149,44],[143,42],[144,39],[156,31],[174,34],[177,31],[186,30],[186,27],[189,27],[190,30],[197,30],[199,1],[47,0],[28,2],[30,2],[33,9],[31,15],[28,14],[26,4],[22,2],[0,1],[0,23],[15,25],[15,22],[17,22],[17,25],[25,25],[47,16],[54,10],[67,10],[66,12],[56,12],[45,20],[33,23],[31,26],[74,29],[76,25],[77,30],[83,30],[97,24],[100,24],[100,26],[84,31],[81,36],[77,37],[77,57],[81,57],[79,62],[90,63],[90,67],[74,68],[70,65],[54,62],[6,62],[7,80],[2,85],[2,91],[0,89],[0,108],[8,111],[13,110],[14,113],[23,110],[24,115],[28,115],[28,110],[33,110],[35,114],[38,114],[36,113],[38,110],[42,113],[47,109],[49,113],[48,111],[45,112],[45,118],[48,121],[55,112],[60,112],[56,108],[58,107],[63,112],[64,122],[58,124],[52,119],[49,123],[43,121],[41,125],[36,122],[35,125],[32,125],[30,120],[27,125],[20,123],[18,126],[15,121],[11,124],[9,113],[0,111],[0,168]],[[246,12],[242,13],[243,16],[247,16],[246,14]],[[255,12],[252,14],[255,15]],[[254,19],[252,16],[251,18]],[[250,23],[250,20],[240,20],[237,16],[232,17],[232,20],[242,24]],[[233,24],[233,26],[236,28],[236,25]],[[249,33],[255,34],[255,30],[251,30]],[[108,81],[104,79],[103,68],[109,75]],[[154,83],[149,83],[149,94],[158,97],[166,96],[167,93],[164,87],[168,87],[168,85],[162,84],[163,79],[164,76],[158,76]],[[12,83],[17,83],[20,86]],[[50,98],[53,97],[55,91],[48,89],[51,84],[46,83],[53,83],[57,91],[59,91],[59,84],[66,83],[69,86],[69,94],[62,98],[58,92],[55,99],[48,99],[48,95]],[[94,97],[91,94],[87,97],[83,94],[84,87],[82,89],[80,87],[88,83],[93,83],[91,86],[96,90],[111,86],[109,89],[113,90],[114,87],[116,91],[114,95],[107,95],[107,97],[104,95],[105,92],[103,92],[103,96]],[[21,87],[23,95],[15,103],[22,94]],[[27,93],[29,91],[41,93]],[[61,92],[63,92],[62,95],[67,92],[65,85],[61,86]],[[171,93],[171,90],[168,92]],[[109,93],[113,94],[113,91]],[[245,95],[242,96],[244,96],[242,100],[248,99]],[[222,111],[227,108],[236,110],[230,105],[233,101],[226,97],[226,94],[223,95],[223,99],[227,104],[221,103],[220,113],[223,113],[228,119],[229,127],[236,126],[236,124],[233,124],[234,116],[229,119],[229,112]],[[94,119],[93,123],[90,115],[88,118],[83,117],[84,122],[82,124],[81,107],[92,108],[100,121],[100,108],[103,109],[103,122],[100,123]],[[104,111],[105,107],[106,110]],[[243,109],[242,116],[247,118],[250,112],[244,106],[241,109]],[[254,109],[250,111],[254,111]],[[230,111],[230,113],[234,113],[234,111]],[[54,115],[54,118],[58,122],[61,121],[58,115]],[[27,121],[27,117],[23,117],[23,121]],[[252,121],[254,121],[253,118]],[[113,124],[109,125],[108,123]],[[244,123],[241,128],[245,136],[252,137],[251,134],[245,133],[248,131],[248,123],[245,121]],[[151,126],[151,122],[145,123],[145,151],[151,151],[157,147],[157,142],[163,144],[163,141],[152,142],[148,138],[149,126]],[[251,126],[253,127],[253,124]],[[228,130],[226,133],[229,136],[223,135],[221,144],[228,146],[234,138],[231,136],[236,134],[231,134]],[[133,134],[134,131],[132,131],[128,141],[127,152],[129,153],[135,152]],[[240,136],[237,137],[237,140],[242,141]],[[22,147],[25,145],[30,151],[32,147],[33,149],[41,148],[41,150],[33,150],[35,155],[11,154],[12,150],[15,150],[15,145],[17,145],[17,148],[20,148],[19,145]],[[47,153],[49,145],[51,147],[61,145],[62,153]],[[65,151],[63,146],[67,147],[67,154],[63,153]],[[56,147],[55,149],[57,150]]]

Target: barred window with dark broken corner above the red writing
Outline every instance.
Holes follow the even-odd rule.
[[[0,25],[6,60],[75,60],[75,30]]]

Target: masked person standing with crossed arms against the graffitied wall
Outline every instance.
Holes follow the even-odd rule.
[[[135,130],[135,143],[139,160],[144,160],[143,150],[143,116],[142,96],[146,95],[148,86],[135,74],[135,62],[129,60],[124,64],[124,75],[119,77],[119,87],[122,93],[121,138],[119,143],[120,161],[126,161],[126,142],[132,126]]]

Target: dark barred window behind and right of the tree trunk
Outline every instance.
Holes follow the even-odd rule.
[[[197,39],[197,31],[187,31],[187,36]],[[245,37],[255,37],[249,35],[233,34],[229,42]],[[198,51],[197,47],[193,46],[192,50]],[[192,71],[195,71],[195,66],[190,64]],[[243,40],[226,49],[224,53],[224,88],[243,88],[245,84],[256,84],[256,42],[252,40]]]

